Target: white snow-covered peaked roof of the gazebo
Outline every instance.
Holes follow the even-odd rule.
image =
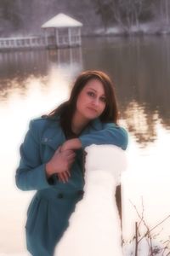
[[[75,27],[75,26],[82,26],[82,23],[72,19],[68,15],[59,14],[54,16],[51,20],[48,20],[42,25],[42,28],[48,27]]]

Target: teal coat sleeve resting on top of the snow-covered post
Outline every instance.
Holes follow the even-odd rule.
[[[86,148],[91,144],[112,144],[122,149],[127,148],[127,131],[114,123],[107,123],[102,130],[92,131],[89,134],[79,137],[82,148]]]

